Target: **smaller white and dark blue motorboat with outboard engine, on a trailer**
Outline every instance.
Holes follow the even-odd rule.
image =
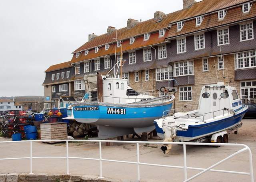
[[[189,112],[169,110],[154,120],[157,134],[165,142],[227,143],[228,133],[237,132],[248,106],[242,104],[236,89],[224,83],[202,87],[198,109]],[[171,145],[162,146],[168,153]]]

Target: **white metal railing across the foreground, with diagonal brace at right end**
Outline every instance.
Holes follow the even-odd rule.
[[[42,156],[42,157],[33,157],[32,154],[32,143],[33,142],[66,142],[66,157],[50,157],[50,156]],[[231,154],[230,156],[226,157],[225,159],[217,162],[216,164],[208,167],[208,168],[193,168],[187,166],[186,163],[186,145],[207,145],[207,146],[219,146],[220,143],[194,143],[194,142],[142,142],[142,141],[120,141],[120,140],[22,140],[22,141],[4,141],[0,142],[2,143],[13,143],[13,142],[30,142],[30,157],[20,157],[20,158],[0,158],[0,160],[16,160],[16,159],[29,159],[30,160],[30,174],[33,174],[33,166],[32,166],[32,160],[33,159],[38,159],[38,158],[66,158],[66,166],[67,166],[67,173],[70,174],[69,172],[69,160],[70,159],[83,159],[83,160],[98,160],[100,163],[100,176],[98,178],[103,178],[102,177],[102,161],[108,161],[108,162],[121,162],[121,163],[128,163],[128,164],[136,164],[137,165],[137,180],[140,181],[140,165],[147,165],[147,166],[159,166],[159,167],[167,167],[167,168],[178,168],[178,169],[183,169],[184,170],[184,182],[188,182],[197,176],[207,172],[223,172],[223,173],[231,173],[231,174],[242,174],[242,175],[249,175],[250,176],[250,182],[253,182],[253,166],[252,166],[252,152],[250,148],[244,144],[226,144],[222,143],[221,146],[240,146],[244,147],[241,150],[238,150],[237,152],[234,152],[234,154]],[[70,157],[69,152],[68,152],[68,142],[99,142],[99,158],[82,158],[82,157]],[[136,151],[137,151],[137,161],[132,162],[132,161],[121,161],[121,160],[108,160],[102,158],[102,142],[114,142],[114,143],[136,143]],[[139,152],[139,144],[182,144],[183,145],[183,164],[184,166],[170,166],[170,165],[161,165],[161,164],[152,164],[152,163],[143,163],[140,162],[140,152]],[[238,172],[238,171],[228,171],[228,170],[214,170],[213,168],[218,166],[219,164],[225,162],[226,160],[242,153],[248,151],[248,159],[249,159],[249,168],[250,172]],[[18,152],[18,151],[17,151]],[[187,170],[200,170],[198,174],[188,178],[187,177]]]

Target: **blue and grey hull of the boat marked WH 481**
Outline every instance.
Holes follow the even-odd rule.
[[[97,102],[96,102],[97,103]],[[172,102],[158,104],[129,106],[129,104],[118,107],[118,104],[108,106],[106,104],[90,104],[73,107],[74,118],[78,122],[122,127],[140,128],[154,125],[155,119],[162,117],[165,110],[172,108]]]

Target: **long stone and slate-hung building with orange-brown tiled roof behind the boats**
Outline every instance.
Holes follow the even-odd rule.
[[[256,98],[255,28],[255,0],[183,0],[182,10],[157,11],[144,22],[129,19],[118,30],[109,26],[106,34],[89,34],[69,62],[45,71],[45,102],[53,107],[57,93],[85,94],[84,75],[120,77],[119,65],[111,68],[121,47],[122,78],[146,94],[177,86],[175,108],[196,106],[202,86],[217,82],[235,86],[242,98]]]

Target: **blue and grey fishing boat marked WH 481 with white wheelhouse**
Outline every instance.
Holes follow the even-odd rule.
[[[154,120],[161,117],[164,110],[170,110],[174,101],[174,95],[168,91],[158,97],[140,94],[128,86],[127,79],[108,78],[98,73],[96,83],[96,99],[87,97],[72,105],[77,122],[97,126],[98,137],[91,139],[152,131]]]

